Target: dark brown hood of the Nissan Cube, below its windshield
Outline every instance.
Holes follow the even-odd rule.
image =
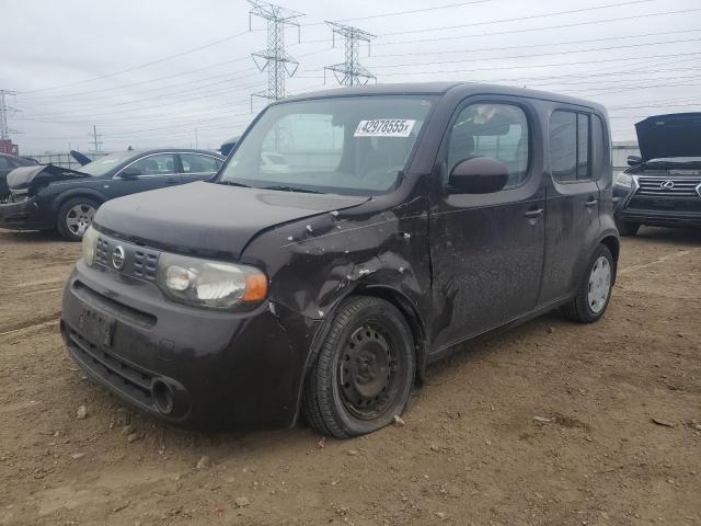
[[[143,244],[239,259],[249,241],[266,229],[366,201],[198,182],[108,201],[94,222]]]

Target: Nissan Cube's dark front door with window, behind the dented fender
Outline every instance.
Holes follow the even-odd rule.
[[[506,96],[469,100],[448,126],[429,219],[435,351],[537,306],[545,194],[542,133],[532,104]],[[473,195],[451,191],[452,168],[474,157],[507,165],[503,190]]]

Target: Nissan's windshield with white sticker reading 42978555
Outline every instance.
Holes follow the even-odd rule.
[[[273,105],[218,182],[345,195],[386,193],[405,169],[433,101],[377,95]]]

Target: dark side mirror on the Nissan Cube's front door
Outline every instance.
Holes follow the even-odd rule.
[[[492,194],[506,186],[508,168],[491,157],[475,157],[461,161],[450,172],[451,194]]]

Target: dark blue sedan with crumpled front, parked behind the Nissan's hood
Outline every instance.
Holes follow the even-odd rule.
[[[147,190],[211,179],[223,157],[206,150],[128,150],[95,159],[80,171],[45,164],[8,174],[0,228],[53,230],[80,241],[102,203]]]

